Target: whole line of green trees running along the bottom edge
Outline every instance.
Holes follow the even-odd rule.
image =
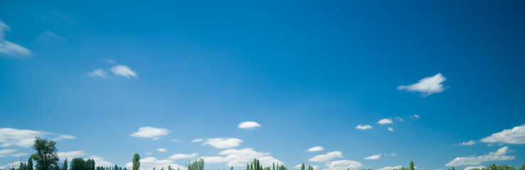
[[[94,159],[87,159],[84,160],[83,158],[74,158],[71,160],[70,164],[68,165],[68,159],[64,159],[63,164],[59,165],[58,161],[58,155],[57,155],[57,149],[56,149],[56,142],[53,140],[48,140],[41,137],[36,137],[35,142],[33,145],[33,149],[35,149],[34,154],[31,154],[31,157],[28,158],[27,162],[21,162],[20,166],[15,169],[15,167],[11,167],[9,170],[33,170],[33,162],[36,162],[34,165],[34,170],[128,170],[126,167],[122,168],[120,166],[112,166],[112,167],[103,167],[103,166],[95,166],[95,160]],[[69,169],[68,169],[69,168]],[[301,170],[305,170],[306,166],[304,163],[301,165]],[[132,159],[132,169],[131,170],[140,170],[140,156],[139,154],[134,154]],[[153,168],[155,170],[155,168]],[[175,170],[171,168],[171,166],[168,166],[168,169],[164,169],[164,167],[161,167],[161,170]],[[180,170],[177,168],[176,170]],[[204,159],[196,159],[193,161],[189,161],[186,164],[186,170],[204,170]],[[230,170],[233,170],[233,166],[230,166]],[[253,162],[250,164],[246,164],[245,170],[289,170],[284,165],[279,165],[279,163],[275,164],[273,163],[272,166],[263,166],[260,164],[258,159],[253,159]],[[314,170],[313,166],[308,166],[307,170]],[[347,169],[350,170],[350,169]],[[373,170],[373,169],[357,169],[357,170]],[[414,162],[410,162],[410,165],[408,168],[401,167],[399,169],[391,169],[391,170],[415,170],[414,169]],[[448,170],[456,170],[454,167],[452,169]],[[522,164],[519,169],[515,169],[514,166],[509,166],[506,164],[498,165],[496,164],[490,164],[489,166],[482,168],[482,169],[471,169],[471,170],[525,170],[525,164]]]

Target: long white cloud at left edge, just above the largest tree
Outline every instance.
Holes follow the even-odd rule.
[[[31,147],[35,137],[55,136],[54,133],[38,130],[20,130],[14,128],[0,128],[0,147]],[[58,138],[70,139],[71,135],[60,135]],[[74,139],[74,137],[73,137]]]

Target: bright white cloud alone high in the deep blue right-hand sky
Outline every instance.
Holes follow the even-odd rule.
[[[416,91],[422,93],[423,96],[428,96],[430,94],[440,93],[441,91],[444,91],[445,88],[441,83],[445,80],[445,77],[443,77],[440,73],[437,73],[433,77],[425,77],[423,79],[420,79],[420,81],[418,81],[418,83],[416,84],[410,84],[408,86],[398,86],[398,90]]]

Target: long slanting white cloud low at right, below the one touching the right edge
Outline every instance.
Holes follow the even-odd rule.
[[[474,157],[473,155],[468,157],[456,157],[454,160],[448,162],[445,166],[463,166],[463,165],[479,165],[482,162],[494,162],[512,160],[514,156],[507,156],[507,149],[509,147],[499,148],[496,152],[490,152],[481,156]]]

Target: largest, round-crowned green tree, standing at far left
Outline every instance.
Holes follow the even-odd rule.
[[[36,170],[55,170],[58,168],[55,145],[56,142],[53,140],[35,137],[33,149],[36,153],[31,155],[31,159],[36,161]]]

